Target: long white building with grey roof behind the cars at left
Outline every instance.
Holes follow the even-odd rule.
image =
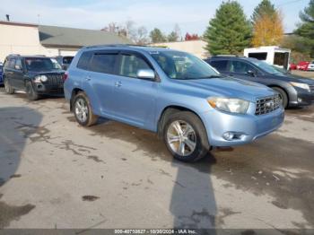
[[[132,43],[101,30],[0,21],[0,62],[10,54],[73,56],[83,46]]]

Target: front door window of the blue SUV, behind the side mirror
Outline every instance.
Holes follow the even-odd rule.
[[[121,55],[121,63],[118,74],[127,77],[137,77],[137,72],[141,69],[152,69],[144,58],[137,55]]]

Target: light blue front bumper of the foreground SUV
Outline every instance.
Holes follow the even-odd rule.
[[[256,116],[255,114],[230,114],[213,109],[205,113],[203,121],[212,146],[248,144],[258,137],[274,132],[283,124],[284,109]],[[236,138],[226,140],[223,135],[231,132]]]

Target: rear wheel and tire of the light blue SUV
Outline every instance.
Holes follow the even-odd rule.
[[[74,97],[73,112],[76,121],[81,126],[96,124],[98,116],[92,113],[91,102],[84,92],[78,92]]]

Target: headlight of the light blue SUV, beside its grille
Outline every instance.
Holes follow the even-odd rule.
[[[207,99],[210,106],[230,113],[245,114],[249,109],[249,101],[233,98],[210,97]]]

